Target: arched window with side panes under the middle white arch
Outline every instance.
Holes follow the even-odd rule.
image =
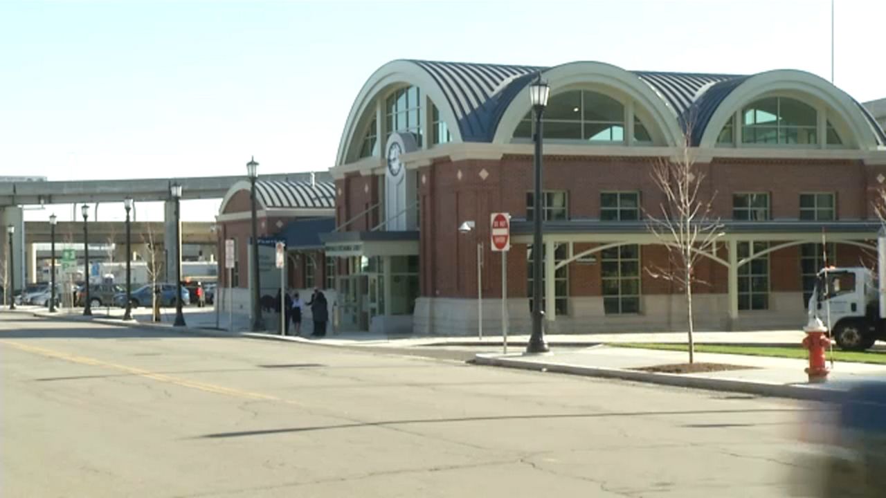
[[[580,140],[590,143],[624,144],[625,105],[618,100],[590,90],[571,90],[550,97],[542,115],[544,137]],[[638,120],[639,121],[639,120]],[[514,136],[532,138],[532,111],[517,125]],[[641,141],[649,138],[645,127],[634,128]]]

